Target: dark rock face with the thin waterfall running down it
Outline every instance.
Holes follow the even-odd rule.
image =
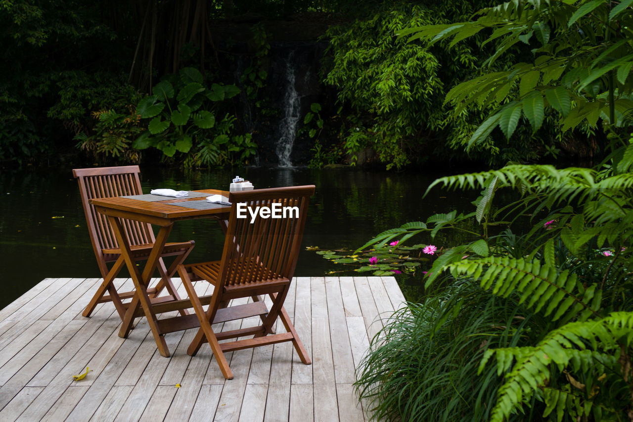
[[[242,81],[244,72],[251,66],[254,51],[251,42],[244,40],[243,31],[230,37],[223,31],[220,50],[225,51],[220,66],[224,79],[242,89],[236,109],[235,125],[244,133],[252,133],[258,144],[256,163],[262,166],[301,166],[308,162],[311,140],[304,136],[299,142],[297,133],[313,102],[322,102],[325,87],[320,83],[319,70],[325,42],[290,40],[292,34],[273,33],[270,51],[259,59],[257,71],[267,77],[256,95],[247,93],[248,80]],[[237,28],[232,28],[236,30]],[[279,30],[277,30],[279,32]],[[279,37],[282,40],[275,40]],[[215,37],[218,39],[218,37]],[[242,39],[240,39],[242,38]],[[238,40],[239,39],[239,40]]]

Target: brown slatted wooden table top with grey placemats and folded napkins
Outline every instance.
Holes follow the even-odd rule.
[[[223,195],[229,197],[229,192],[218,189],[200,189],[191,192],[201,192],[208,195]],[[204,218],[218,216],[217,214],[225,214],[230,212],[230,206],[218,206],[210,209],[187,208],[186,206],[172,205],[177,202],[183,204],[189,201],[205,201],[204,196],[198,197],[168,197],[161,201],[142,201],[140,199],[128,197],[110,197],[91,199],[97,211],[103,214],[123,216],[125,218],[133,218],[131,214],[137,216],[148,216],[154,218],[168,220],[187,220],[190,218]],[[118,212],[117,212],[118,211]],[[123,215],[127,214],[127,215]]]

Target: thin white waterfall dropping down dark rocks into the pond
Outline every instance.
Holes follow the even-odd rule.
[[[294,58],[294,50],[288,54],[285,63],[285,95],[284,95],[284,117],[279,124],[280,137],[277,141],[277,157],[279,158],[280,167],[292,167],[290,155],[294,138],[297,135],[297,123],[301,118],[301,99],[297,92],[295,83],[295,70],[292,59]]]

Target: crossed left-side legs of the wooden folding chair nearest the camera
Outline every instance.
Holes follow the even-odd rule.
[[[196,289],[194,289],[194,286],[191,283],[191,278],[189,278],[187,270],[185,270],[184,266],[179,266],[178,272],[180,274],[180,278],[182,279],[182,284],[185,286],[185,290],[187,290],[187,295],[189,295],[189,300],[191,300],[191,304],[196,311],[196,316],[200,321],[200,328],[196,334],[196,338],[199,336],[201,337],[201,334],[206,337],[207,342],[211,346],[211,351],[213,351],[213,356],[215,356],[216,361],[218,361],[222,375],[227,380],[232,380],[233,373],[229,367],[229,362],[222,352],[222,347],[220,346],[218,339],[215,337],[215,333],[213,332],[213,328],[211,328],[210,323],[210,318],[213,318],[213,315],[215,314],[213,309],[218,306],[218,301],[215,298],[212,299],[211,304],[209,304],[209,311],[204,312],[204,308],[202,307],[200,299],[198,299]],[[189,349],[187,350],[187,354],[190,356],[194,356],[202,344],[202,338],[199,338],[199,340],[196,340],[196,338],[194,338],[194,341],[191,342],[191,345],[189,345]]]

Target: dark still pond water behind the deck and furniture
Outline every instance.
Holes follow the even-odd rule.
[[[356,168],[182,171],[142,166],[141,173],[144,193],[156,188],[228,190],[235,174],[251,180],[256,189],[316,185],[296,276],[344,270],[306,251],[308,245],[356,248],[382,230],[407,221],[423,221],[455,208],[470,212],[470,201],[477,196],[476,192],[436,189],[423,199],[432,176]],[[0,199],[0,309],[47,277],[101,277],[70,169],[2,170]],[[169,240],[191,239],[196,247],[187,262],[220,258],[223,235],[216,221],[180,221]],[[125,274],[122,271],[120,276]]]

